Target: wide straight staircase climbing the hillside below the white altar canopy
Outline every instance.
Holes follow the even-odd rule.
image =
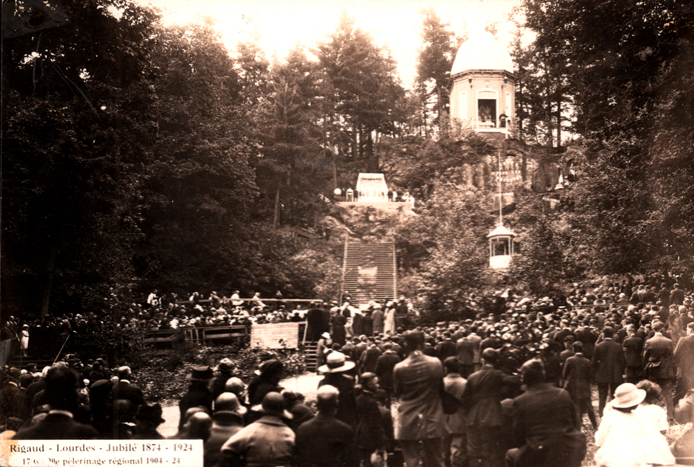
[[[353,305],[396,298],[398,277],[392,243],[346,243],[342,296]]]

